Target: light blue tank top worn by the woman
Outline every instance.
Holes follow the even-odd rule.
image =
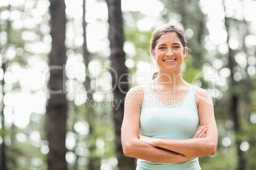
[[[199,115],[195,101],[196,86],[176,105],[163,105],[153,95],[151,88],[144,87],[144,100],[140,114],[140,135],[152,138],[188,139],[199,128]],[[137,170],[182,169],[199,170],[198,158],[185,162],[152,162],[138,159]]]

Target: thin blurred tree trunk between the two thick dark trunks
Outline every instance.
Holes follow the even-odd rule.
[[[88,51],[87,48],[87,36],[86,36],[86,27],[87,27],[87,23],[85,21],[85,0],[83,0],[83,62],[85,63],[85,73],[86,73],[86,77],[85,77],[85,82],[84,82],[84,86],[85,89],[87,90],[87,102],[90,103],[90,101],[94,100],[92,95],[93,95],[93,91],[89,91],[90,90],[90,70],[89,70],[89,62],[90,62],[90,53]],[[87,105],[85,105],[87,106]],[[97,157],[96,153],[96,136],[94,134],[94,116],[96,115],[96,113],[94,112],[94,108],[91,107],[90,105],[88,105],[87,107],[87,113],[86,115],[86,119],[87,119],[87,123],[89,124],[89,134],[88,134],[88,138],[91,141],[91,145],[88,148],[89,149],[89,164],[88,164],[88,169],[90,170],[97,170],[100,169],[101,167],[101,160],[99,159],[99,157]]]

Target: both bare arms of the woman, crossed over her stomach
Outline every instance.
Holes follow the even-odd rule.
[[[125,98],[121,134],[125,156],[153,162],[183,162],[192,157],[215,154],[218,132],[211,96],[206,91],[197,89],[196,103],[201,127],[193,138],[187,140],[139,136],[139,115],[143,98],[141,87],[131,89]]]

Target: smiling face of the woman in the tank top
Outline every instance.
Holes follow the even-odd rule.
[[[161,70],[164,72],[180,72],[180,66],[186,55],[186,49],[184,49],[175,32],[167,32],[162,34],[157,40],[152,55],[153,60],[155,60],[159,66],[160,72]]]

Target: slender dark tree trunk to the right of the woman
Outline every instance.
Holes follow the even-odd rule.
[[[224,12],[226,13],[225,10],[225,0],[223,0],[223,6],[224,6]],[[231,19],[231,18],[230,18]],[[229,18],[227,18],[227,16],[225,15],[225,27],[227,30],[227,44],[229,44]],[[229,59],[229,63],[228,63],[228,67],[231,70],[231,83],[229,86],[229,89],[231,91],[231,98],[230,98],[230,113],[231,113],[231,117],[232,117],[232,121],[234,122],[234,131],[236,134],[239,133],[240,131],[240,123],[239,123],[239,113],[238,113],[238,107],[239,107],[239,96],[236,93],[234,87],[237,85],[236,81],[234,80],[234,65],[235,65],[235,61],[234,61],[234,56],[235,56],[235,51],[232,50],[229,47],[229,53],[228,53],[228,59]],[[236,141],[235,141],[235,145],[236,145],[236,152],[238,154],[238,170],[246,170],[246,160],[244,157],[243,152],[240,149],[240,145],[241,145],[241,140],[237,137],[238,135],[236,135]]]

